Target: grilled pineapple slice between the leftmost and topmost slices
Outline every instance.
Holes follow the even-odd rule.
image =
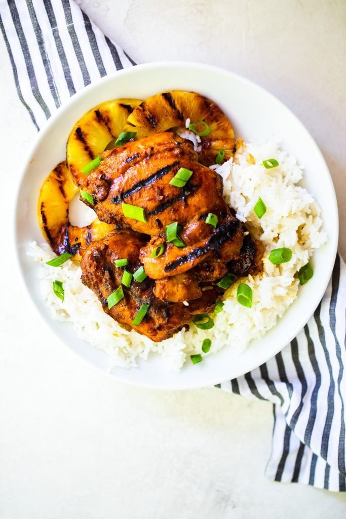
[[[115,139],[140,99],[116,99],[94,106],[75,124],[67,140],[66,162],[74,182],[79,186],[85,175],[80,168],[100,155]]]

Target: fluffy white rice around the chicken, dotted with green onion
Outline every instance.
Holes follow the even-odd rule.
[[[266,169],[262,161],[269,158],[278,160],[279,166]],[[172,370],[179,370],[188,356],[201,353],[205,338],[212,340],[212,347],[203,356],[226,345],[238,354],[283,316],[297,295],[299,281],[295,273],[309,261],[313,250],[326,242],[318,204],[306,189],[296,185],[302,179],[302,167],[277,143],[241,145],[233,160],[212,169],[223,177],[226,202],[262,241],[266,252],[261,275],[242,278],[226,291],[223,311],[212,316],[215,326],[211,330],[200,330],[191,324],[189,330],[183,329],[162,343],[123,330],[104,313],[93,292],[81,283],[77,263],[68,261],[60,268],[49,267],[45,262],[54,256],[49,246],[31,244],[29,254],[41,263],[41,293],[52,317],[72,322],[80,338],[109,354],[112,366],[134,367],[139,358],[146,359],[149,351],[156,351]],[[261,219],[254,212],[258,197],[267,206]],[[273,265],[268,260],[269,251],[279,247],[291,249],[292,259]],[[56,279],[63,282],[64,302],[52,292],[52,281]],[[237,302],[240,282],[246,282],[253,290],[252,308]]]

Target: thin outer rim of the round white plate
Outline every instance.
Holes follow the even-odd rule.
[[[307,130],[305,125],[303,125],[303,123],[300,121],[300,119],[290,110],[290,108],[288,108],[280,99],[276,98],[275,95],[273,95],[267,89],[265,89],[264,87],[261,87],[260,85],[255,83],[255,81],[252,81],[251,79],[245,78],[245,77],[241,76],[240,74],[234,73],[232,71],[223,69],[222,67],[218,67],[218,66],[215,66],[215,65],[208,65],[208,64],[204,64],[204,63],[190,62],[190,61],[156,61],[156,62],[153,62],[153,63],[144,63],[144,64],[140,64],[140,65],[131,66],[131,67],[128,67],[126,69],[122,69],[122,70],[113,72],[111,74],[108,74],[108,75],[106,75],[104,77],[101,77],[101,78],[93,81],[91,84],[89,84],[89,85],[81,88],[80,90],[78,90],[76,93],[74,93],[71,96],[70,99],[68,99],[61,106],[59,106],[57,108],[57,110],[54,111],[54,113],[49,117],[49,119],[47,119],[47,121],[45,121],[43,126],[40,128],[40,130],[38,131],[37,135],[35,136],[32,144],[29,147],[29,151],[27,151],[27,153],[25,154],[24,159],[22,160],[22,165],[20,167],[20,173],[19,173],[19,175],[17,177],[17,181],[16,181],[15,204],[13,206],[13,218],[12,218],[12,225],[13,225],[13,228],[12,228],[12,230],[13,230],[12,238],[13,238],[13,242],[12,242],[12,247],[15,249],[16,264],[17,264],[17,267],[18,267],[18,269],[20,271],[20,276],[21,276],[22,283],[25,286],[26,293],[29,295],[29,299],[30,299],[31,303],[35,307],[35,310],[38,313],[40,319],[45,322],[45,324],[47,325],[47,328],[50,330],[50,332],[54,333],[54,335],[59,339],[59,342],[66,349],[68,349],[70,352],[72,351],[79,359],[82,359],[89,366],[91,365],[98,372],[102,372],[103,374],[106,374],[106,375],[108,375],[108,376],[110,376],[112,378],[116,378],[117,380],[121,380],[121,381],[126,382],[128,384],[130,383],[130,384],[141,386],[141,387],[148,387],[148,388],[155,388],[155,389],[182,390],[182,389],[195,389],[195,388],[200,388],[200,387],[205,387],[205,386],[210,386],[210,385],[214,385],[214,384],[223,383],[225,381],[230,380],[230,377],[226,377],[226,378],[224,377],[222,380],[215,380],[215,377],[210,375],[209,377],[208,376],[205,377],[205,382],[203,384],[193,383],[192,382],[191,384],[186,384],[185,383],[184,386],[181,386],[181,387],[177,387],[176,385],[173,385],[171,387],[169,385],[162,387],[160,384],[156,384],[155,380],[154,381],[150,380],[150,382],[147,381],[147,383],[145,383],[145,381],[143,381],[143,380],[141,380],[140,383],[137,383],[136,381],[133,381],[133,380],[128,380],[127,377],[126,377],[126,373],[127,373],[128,370],[126,370],[125,368],[119,368],[120,370],[122,370],[124,376],[121,376],[121,374],[118,374],[118,373],[115,374],[113,372],[105,371],[101,366],[98,366],[95,363],[91,362],[89,359],[86,359],[85,357],[81,356],[77,351],[74,350],[74,348],[70,347],[63,340],[63,338],[59,336],[58,332],[56,332],[56,330],[54,330],[53,327],[51,327],[49,325],[49,323],[46,322],[46,320],[45,320],[45,318],[43,316],[43,313],[40,311],[40,309],[38,308],[38,306],[36,305],[34,299],[32,298],[32,296],[30,294],[29,286],[28,286],[28,284],[26,282],[26,279],[25,279],[24,269],[23,269],[23,265],[22,265],[22,262],[21,262],[20,251],[19,251],[19,247],[18,247],[18,243],[19,243],[19,236],[18,236],[18,232],[19,232],[19,229],[18,229],[19,207],[18,207],[18,202],[19,202],[19,195],[20,195],[23,183],[24,183],[25,175],[26,175],[27,170],[30,168],[31,161],[34,158],[35,153],[36,153],[37,149],[39,148],[39,146],[41,144],[41,141],[43,141],[43,139],[45,138],[47,132],[49,131],[49,129],[51,127],[54,126],[54,124],[56,123],[57,119],[60,118],[61,114],[63,114],[65,111],[67,111],[70,108],[70,106],[75,104],[80,98],[87,97],[89,92],[91,92],[92,90],[94,90],[94,89],[97,90],[100,87],[100,85],[102,85],[106,81],[112,82],[115,78],[119,78],[119,77],[121,77],[123,75],[137,74],[138,72],[141,73],[142,71],[143,72],[153,71],[153,70],[162,69],[162,68],[165,68],[165,69],[176,69],[177,67],[179,69],[182,69],[182,70],[184,70],[184,69],[191,69],[191,67],[192,67],[195,70],[199,69],[200,71],[207,72],[207,73],[217,72],[218,74],[222,74],[222,75],[224,75],[226,77],[232,77],[232,78],[236,79],[237,81],[242,82],[243,84],[250,85],[252,87],[256,87],[256,89],[258,89],[259,91],[264,92],[271,100],[275,101],[275,103],[279,103],[279,105],[281,105],[281,107],[284,108],[284,110],[289,112],[290,116],[295,120],[295,122],[300,126],[301,130],[303,132],[305,132],[306,135],[308,136],[308,138],[310,139],[311,143],[314,146],[314,153],[316,153],[319,156],[319,160],[322,163],[324,163],[325,170],[326,170],[325,172],[326,172],[326,174],[329,177],[329,181],[330,181],[331,187],[333,187],[333,189],[332,189],[332,196],[334,198],[334,201],[333,201],[334,202],[334,207],[336,208],[336,221],[335,221],[336,228],[335,228],[335,234],[333,235],[333,237],[329,237],[328,236],[328,241],[330,239],[333,239],[333,249],[332,249],[332,251],[330,253],[330,263],[329,263],[328,269],[326,270],[326,272],[328,273],[328,276],[326,276],[326,278],[325,278],[326,279],[325,283],[321,284],[321,286],[320,286],[319,296],[318,297],[316,296],[315,305],[314,305],[313,310],[310,312],[309,318],[305,319],[305,323],[308,322],[308,320],[313,315],[315,309],[320,304],[320,301],[321,301],[321,299],[323,297],[323,294],[325,293],[325,290],[326,290],[326,287],[328,285],[331,273],[333,271],[334,262],[335,262],[335,258],[336,258],[336,254],[337,254],[338,236],[339,236],[339,217],[338,217],[337,199],[336,199],[336,194],[335,194],[335,188],[334,188],[334,185],[333,185],[333,179],[331,178],[330,171],[328,169],[328,166],[326,164],[326,161],[325,161],[325,159],[324,159],[324,157],[322,155],[322,152],[321,152],[319,146],[316,144],[315,140],[313,139],[312,135]],[[91,108],[92,108],[92,106],[91,106]],[[330,243],[329,243],[329,246],[330,246]],[[333,261],[332,261],[332,258],[333,258]],[[275,326],[274,326],[274,328],[275,328]],[[287,340],[285,341],[285,345],[289,344],[289,342],[294,337],[296,337],[297,333],[299,333],[299,331],[301,330],[301,326],[299,325],[298,328],[299,328],[298,330],[297,330],[297,326],[293,328],[292,332],[287,336]],[[262,339],[264,337],[262,337]],[[284,346],[280,345],[278,347],[277,351],[275,351],[275,353],[273,353],[273,351],[271,350],[269,354],[267,354],[267,355],[264,354],[263,360],[260,362],[260,364],[267,362],[270,358],[272,358],[276,354],[278,354],[285,347],[285,345]],[[147,362],[147,361],[145,361],[145,362]],[[250,371],[254,370],[256,367],[258,367],[260,364],[258,364],[258,361],[254,361],[253,364],[250,364],[250,367],[248,367],[245,372],[240,370],[238,374],[236,374],[236,375],[232,374],[232,378],[236,378],[238,376],[243,375],[244,373],[250,372]]]

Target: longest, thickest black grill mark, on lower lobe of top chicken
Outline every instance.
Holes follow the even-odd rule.
[[[209,240],[207,240],[204,247],[197,247],[195,250],[191,251],[189,254],[185,254],[184,256],[180,256],[177,260],[169,263],[164,267],[166,272],[170,272],[175,270],[177,267],[184,265],[184,263],[188,263],[190,261],[195,260],[198,257],[203,256],[210,250],[218,250],[221,245],[223,245],[226,241],[231,240],[234,234],[237,233],[239,229],[240,223],[238,220],[232,220],[231,222],[220,225],[215,234],[213,234]]]

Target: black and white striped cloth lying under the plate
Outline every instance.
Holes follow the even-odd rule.
[[[74,92],[135,65],[73,0],[0,0],[0,25],[17,92],[37,129]],[[219,385],[274,405],[266,475],[346,490],[346,267],[338,255],[322,302],[266,364]]]

